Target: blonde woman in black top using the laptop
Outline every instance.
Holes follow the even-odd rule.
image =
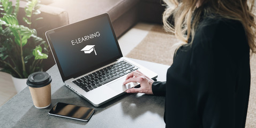
[[[165,96],[166,127],[245,127],[250,50],[255,53],[256,47],[254,0],[165,3],[164,27],[184,44],[176,50],[166,82],[134,71],[124,84],[141,87],[126,92]]]

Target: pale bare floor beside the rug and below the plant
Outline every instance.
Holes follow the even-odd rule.
[[[123,56],[128,54],[142,39],[148,34],[148,31],[154,25],[147,23],[138,23],[132,29],[127,31],[121,38],[118,39],[119,45]],[[14,88],[12,78],[10,74],[0,72],[0,106],[6,101],[16,95],[16,89]]]

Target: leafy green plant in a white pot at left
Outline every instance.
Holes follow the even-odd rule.
[[[42,18],[34,16],[40,14],[39,1],[27,1],[25,7],[26,16],[23,17],[25,26],[20,25],[17,20],[19,12],[19,0],[14,7],[9,0],[0,0],[0,67],[1,71],[12,75],[15,80],[24,79],[26,87],[26,78],[35,71],[42,70],[42,60],[48,58],[48,44],[36,36],[36,30],[33,29],[33,23]],[[44,53],[43,53],[44,52]],[[20,82],[18,82],[20,83]],[[24,89],[21,87],[21,90]],[[20,85],[18,85],[20,88]],[[17,89],[17,87],[16,87]],[[17,90],[17,92],[21,91]]]

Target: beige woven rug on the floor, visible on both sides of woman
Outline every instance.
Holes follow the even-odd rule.
[[[154,26],[148,35],[126,57],[171,65],[178,40],[162,26]],[[251,91],[246,126],[256,127],[256,55],[251,57]]]

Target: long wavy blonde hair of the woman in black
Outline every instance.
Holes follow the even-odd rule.
[[[222,18],[238,20],[245,29],[252,53],[256,53],[256,24],[254,0],[163,0],[167,9],[163,13],[165,30],[174,33],[183,44],[193,42],[201,13],[215,13]],[[199,5],[199,6],[198,6]],[[204,7],[207,5],[207,7]],[[195,9],[197,11],[195,11]],[[193,21],[192,21],[193,16]],[[171,19],[170,19],[171,18]],[[171,20],[171,21],[170,21]],[[174,26],[174,25],[175,26]]]

